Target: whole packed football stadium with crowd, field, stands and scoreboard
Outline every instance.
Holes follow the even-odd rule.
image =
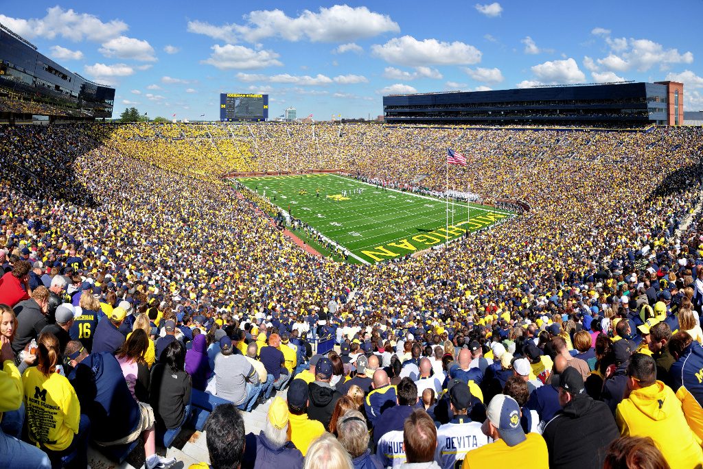
[[[0,27],[1,467],[703,463],[695,88],[120,121],[59,62]]]

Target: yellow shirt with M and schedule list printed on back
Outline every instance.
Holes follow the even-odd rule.
[[[22,382],[30,440],[53,451],[69,447],[81,418],[81,405],[73,386],[65,376],[44,376],[34,366],[25,371]]]

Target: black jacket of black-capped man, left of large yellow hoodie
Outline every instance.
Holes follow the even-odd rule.
[[[542,436],[549,451],[550,469],[600,469],[608,445],[620,432],[607,405],[584,394],[557,412]]]

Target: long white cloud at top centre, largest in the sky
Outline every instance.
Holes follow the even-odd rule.
[[[313,42],[344,42],[400,31],[398,23],[391,20],[389,15],[369,11],[366,6],[321,7],[318,13],[305,10],[296,18],[291,18],[280,10],[252,11],[245,15],[245,20],[245,25],[222,26],[190,21],[188,32],[228,42],[236,42],[241,38],[255,43],[269,37],[280,37],[287,41],[309,39]]]

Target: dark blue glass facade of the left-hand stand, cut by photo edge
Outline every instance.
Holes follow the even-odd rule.
[[[110,118],[115,88],[65,69],[34,46],[0,28],[0,89],[15,98],[43,100],[84,117]]]

